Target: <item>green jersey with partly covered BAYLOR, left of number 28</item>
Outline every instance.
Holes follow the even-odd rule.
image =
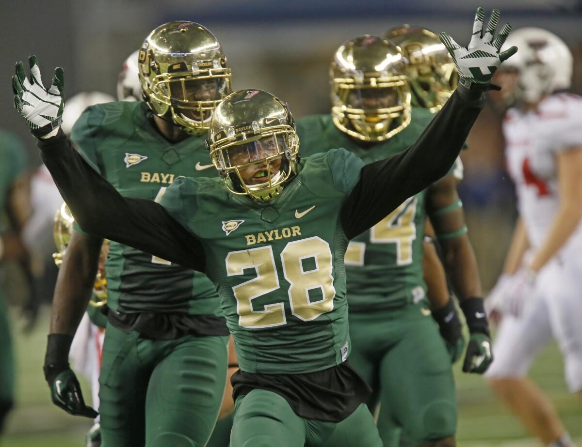
[[[159,201],[179,176],[217,175],[204,137],[168,142],[150,117],[141,101],[95,105],[75,123],[71,140],[124,196]],[[199,272],[113,241],[105,269],[113,310],[222,315],[214,284]]]

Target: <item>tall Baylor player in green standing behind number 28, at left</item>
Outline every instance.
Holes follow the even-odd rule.
[[[214,176],[210,117],[230,92],[217,39],[193,22],[155,28],[140,49],[144,101],[88,108],[71,139],[123,195],[159,202],[179,176]],[[38,79],[38,68],[32,75]],[[104,199],[99,199],[100,201]],[[59,271],[45,376],[56,405],[84,405],[67,356],[93,289],[102,238],[75,227]],[[225,388],[228,328],[214,285],[170,260],[111,242],[100,374],[104,445],[205,445]],[[73,392],[74,391],[74,392]]]

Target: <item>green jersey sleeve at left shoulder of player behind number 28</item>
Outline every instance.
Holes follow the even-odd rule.
[[[73,125],[70,140],[79,149],[79,153],[98,173],[102,174],[103,163],[98,152],[97,134],[105,112],[98,106],[90,106],[81,113]]]

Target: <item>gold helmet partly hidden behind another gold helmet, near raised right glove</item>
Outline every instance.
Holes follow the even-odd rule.
[[[457,88],[459,75],[438,36],[425,28],[402,25],[386,31],[384,37],[398,45],[407,59],[413,105],[432,113],[441,110]]]

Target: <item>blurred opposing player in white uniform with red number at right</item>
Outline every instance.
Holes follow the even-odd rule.
[[[499,76],[503,98],[514,103],[503,133],[519,220],[488,300],[502,319],[487,376],[545,445],[570,447],[552,403],[527,371],[555,338],[567,386],[582,399],[582,97],[565,92],[572,54],[556,35],[523,28],[506,44],[519,47]]]

